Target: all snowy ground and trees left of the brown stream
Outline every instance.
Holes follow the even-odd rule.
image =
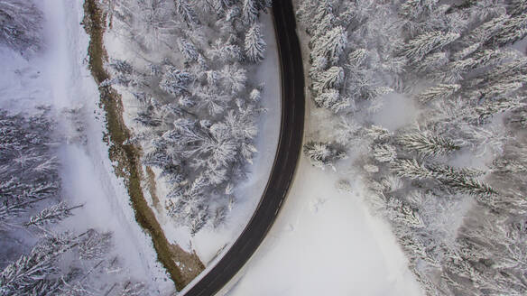
[[[107,159],[107,146],[97,87],[82,65],[88,36],[79,25],[81,8],[0,1],[2,295],[172,289],[153,246],[130,224],[133,209],[116,208],[128,199],[119,200],[109,160],[99,158]]]

